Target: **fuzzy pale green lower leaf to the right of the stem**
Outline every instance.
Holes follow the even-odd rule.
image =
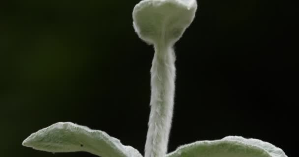
[[[280,151],[261,140],[229,136],[183,145],[166,157],[287,157]]]

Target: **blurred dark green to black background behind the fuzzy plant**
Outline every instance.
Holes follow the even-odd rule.
[[[106,131],[144,154],[153,49],[133,30],[138,2],[0,1],[1,157],[94,157],[21,146],[60,121]],[[169,151],[241,135],[296,157],[297,9],[281,0],[199,1],[176,44]]]

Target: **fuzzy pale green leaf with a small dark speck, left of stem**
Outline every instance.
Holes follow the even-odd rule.
[[[83,151],[101,157],[142,157],[136,149],[122,145],[106,132],[70,122],[56,123],[32,133],[23,145],[53,153]]]

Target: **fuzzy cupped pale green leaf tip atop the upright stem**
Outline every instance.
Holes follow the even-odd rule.
[[[194,19],[196,0],[142,0],[133,10],[133,26],[149,44],[174,44]]]

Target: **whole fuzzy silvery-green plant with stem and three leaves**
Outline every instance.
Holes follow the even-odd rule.
[[[239,136],[197,141],[167,154],[176,78],[173,46],[193,21],[196,9],[196,0],[142,0],[134,7],[135,31],[155,50],[145,157],[287,157],[268,142]],[[32,133],[23,145],[53,153],[85,151],[100,157],[142,157],[136,149],[122,145],[106,132],[70,122]]]

